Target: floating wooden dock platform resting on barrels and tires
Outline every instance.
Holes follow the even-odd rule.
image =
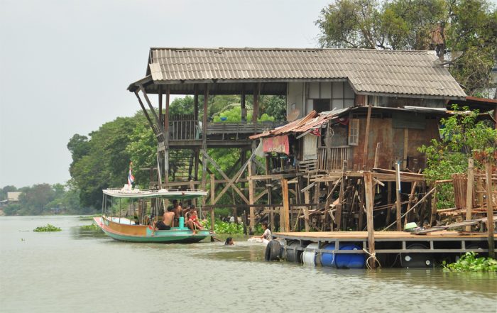
[[[314,263],[319,264],[325,254],[359,254],[363,255],[366,265],[366,259],[372,256],[367,231],[280,232],[274,233],[273,238],[280,243],[280,259],[291,262],[312,263],[314,258]],[[375,231],[374,246],[373,256],[383,267],[432,268],[442,260],[453,262],[469,251],[488,254],[488,235],[461,231],[433,231],[427,234]]]

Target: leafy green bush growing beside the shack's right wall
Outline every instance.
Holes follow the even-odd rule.
[[[454,109],[458,109],[454,106]],[[454,173],[466,172],[468,158],[474,152],[493,156],[497,146],[497,131],[483,121],[476,121],[478,111],[459,111],[448,119],[440,121],[441,139],[432,139],[430,145],[422,145],[418,150],[426,155],[427,168],[424,174],[427,180],[449,180]],[[482,168],[478,159],[475,167]],[[437,185],[437,207],[453,207],[454,188],[452,185]]]

